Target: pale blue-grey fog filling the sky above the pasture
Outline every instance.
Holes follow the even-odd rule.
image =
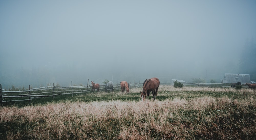
[[[217,83],[256,36],[256,1],[1,1],[0,84]],[[254,64],[255,65],[255,64]],[[246,73],[244,73],[246,74]]]

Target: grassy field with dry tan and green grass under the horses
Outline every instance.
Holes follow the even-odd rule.
[[[0,107],[1,139],[255,139],[255,90],[160,86],[157,99],[85,93]]]

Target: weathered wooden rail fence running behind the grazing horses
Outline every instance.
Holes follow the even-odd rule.
[[[89,80],[88,80],[89,81]],[[130,83],[130,88],[138,88],[142,87],[143,83]],[[160,85],[174,85],[174,83],[160,83]],[[42,98],[42,97],[55,97],[58,95],[67,95],[67,94],[80,94],[80,93],[87,93],[92,91],[91,85],[87,86],[68,86],[68,87],[59,87],[55,86],[54,83],[52,86],[47,87],[39,87],[39,88],[30,88],[28,86],[27,91],[2,91],[2,85],[0,84],[0,102],[1,106],[2,103],[5,102],[12,102],[12,101],[30,101],[35,98]],[[208,83],[183,83],[183,86],[190,86],[190,87],[230,87],[231,84],[229,83],[217,83],[217,84],[208,84]],[[244,88],[248,88],[248,86],[244,86]],[[121,90],[120,84],[114,84],[113,87],[114,91]],[[100,91],[105,91],[105,85],[100,84]],[[97,90],[95,91],[97,92]],[[9,95],[8,95],[9,94]],[[18,94],[18,95],[17,95]],[[7,96],[8,95],[8,96]],[[8,99],[8,100],[5,100]]]

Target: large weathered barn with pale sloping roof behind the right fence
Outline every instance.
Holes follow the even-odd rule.
[[[224,78],[220,79],[221,83],[251,83],[250,74],[232,74],[226,73]]]

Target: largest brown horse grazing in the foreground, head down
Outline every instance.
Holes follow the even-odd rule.
[[[158,78],[150,78],[148,80],[145,80],[144,84],[143,84],[142,92],[140,92],[141,93],[141,101],[145,100],[146,94],[147,94],[147,98],[148,98],[150,92],[152,92],[153,98],[155,100],[156,99],[155,96],[157,95],[157,90],[158,90],[159,85],[160,85],[160,81]]]

